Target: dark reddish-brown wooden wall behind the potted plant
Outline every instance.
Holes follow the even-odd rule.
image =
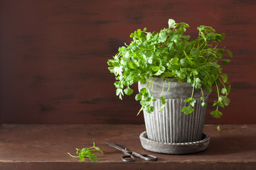
[[[137,28],[169,18],[225,33],[230,107],[206,123],[256,123],[254,0],[0,0],[1,123],[143,123],[133,96],[115,96],[107,60]],[[137,89],[137,86],[134,86]],[[213,102],[210,98],[210,102]]]

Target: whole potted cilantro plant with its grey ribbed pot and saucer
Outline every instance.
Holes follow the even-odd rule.
[[[190,146],[207,137],[203,123],[212,87],[218,98],[213,103],[216,109],[210,114],[220,118],[219,108],[229,105],[230,84],[222,67],[230,62],[223,57],[225,53],[233,56],[230,50],[218,47],[225,35],[215,33],[212,27],[198,26],[198,37],[191,39],[185,34],[187,23],[173,19],[168,23],[169,28],[159,33],[147,32],[146,28],[134,31],[130,35],[132,42],[119,47],[107,64],[116,77],[114,86],[120,99],[133,93],[132,84],[139,84],[135,99],[142,105],[139,113],[144,112],[146,125],[146,132],[141,135],[141,140],[146,137],[146,147],[143,143],[142,146],[154,152],[183,154],[193,151],[178,152],[174,144]],[[151,149],[154,144],[172,147],[166,152]]]

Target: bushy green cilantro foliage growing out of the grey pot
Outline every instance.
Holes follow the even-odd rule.
[[[154,84],[154,79],[165,79],[164,86],[167,85],[167,78],[171,78],[171,81],[177,79],[179,83],[185,81],[192,86],[191,97],[184,100],[189,104],[182,109],[183,113],[189,114],[193,112],[196,103],[193,98],[194,89],[201,89],[201,106],[206,106],[203,89],[210,94],[212,87],[215,87],[218,98],[213,106],[216,109],[210,114],[214,118],[220,118],[222,113],[219,108],[230,103],[228,76],[222,72],[223,65],[228,64],[230,59],[224,56],[227,54],[233,57],[230,50],[218,47],[225,38],[224,33],[215,33],[210,26],[198,26],[198,37],[191,40],[191,37],[185,34],[186,28],[189,28],[187,23],[176,23],[173,19],[169,19],[168,23],[169,28],[164,28],[159,33],[148,32],[146,28],[134,31],[130,35],[133,40],[129,45],[119,47],[117,55],[108,60],[110,72],[117,80],[114,82],[117,96],[122,99],[124,94],[131,95],[132,84],[138,81],[145,83],[146,87],[141,89],[135,99],[142,105],[140,111],[144,109],[151,113],[154,111],[151,103],[156,101],[156,98],[152,96],[149,86]],[[162,110],[166,100],[164,96],[161,96],[160,100]]]

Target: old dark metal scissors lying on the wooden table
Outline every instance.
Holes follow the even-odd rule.
[[[120,151],[122,151],[124,153],[124,156],[122,156],[123,162],[134,162],[135,161],[134,156],[144,159],[145,161],[156,161],[157,160],[157,157],[155,157],[151,154],[138,154],[137,152],[131,151],[127,148],[123,148],[123,147],[119,146],[118,144],[114,145],[114,144],[107,143],[107,145],[110,145],[111,147],[114,147],[115,149],[119,149]]]

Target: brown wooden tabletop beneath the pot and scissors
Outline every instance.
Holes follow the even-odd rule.
[[[144,125],[9,125],[0,126],[0,169],[256,169],[256,125],[205,125],[208,149],[196,154],[147,152],[139,135]],[[70,157],[75,148],[95,142],[105,154],[98,162]],[[156,162],[122,162],[122,152],[105,142],[117,142],[139,153],[154,154]]]

